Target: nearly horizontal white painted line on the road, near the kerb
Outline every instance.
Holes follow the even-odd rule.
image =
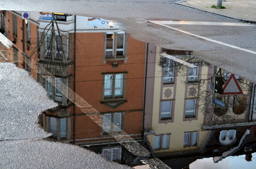
[[[216,26],[255,26],[248,23],[218,23],[218,22],[196,22],[196,21],[172,21],[172,20],[149,20],[151,23],[165,25],[216,25]]]

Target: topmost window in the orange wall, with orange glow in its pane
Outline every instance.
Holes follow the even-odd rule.
[[[124,57],[124,32],[108,32],[105,35],[105,58]]]

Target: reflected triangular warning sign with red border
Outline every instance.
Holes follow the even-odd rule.
[[[231,75],[228,81],[223,87],[222,94],[243,94],[241,87],[238,84],[238,80],[236,80],[235,75]]]

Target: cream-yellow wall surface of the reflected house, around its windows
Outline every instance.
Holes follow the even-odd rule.
[[[169,148],[154,151],[155,154],[170,153],[175,151],[187,151],[199,149],[204,143],[208,132],[201,131],[204,121],[205,110],[205,91],[206,82],[200,85],[198,82],[187,83],[187,68],[181,66],[175,69],[175,80],[173,84],[163,84],[162,68],[159,65],[161,48],[156,50],[156,64],[153,84],[153,115],[152,127],[154,134],[149,134],[147,138],[151,146],[154,144],[154,135],[170,134]],[[207,79],[208,66],[202,65],[199,68],[199,79]],[[193,89],[192,89],[193,88]],[[194,94],[190,94],[190,90],[194,90]],[[195,118],[185,118],[185,99],[197,99],[197,115]],[[171,120],[160,120],[161,101],[173,101]],[[184,133],[199,132],[197,146],[184,147]]]

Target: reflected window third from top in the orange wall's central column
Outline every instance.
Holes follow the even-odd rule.
[[[115,133],[122,131],[122,113],[103,114],[103,132]]]

